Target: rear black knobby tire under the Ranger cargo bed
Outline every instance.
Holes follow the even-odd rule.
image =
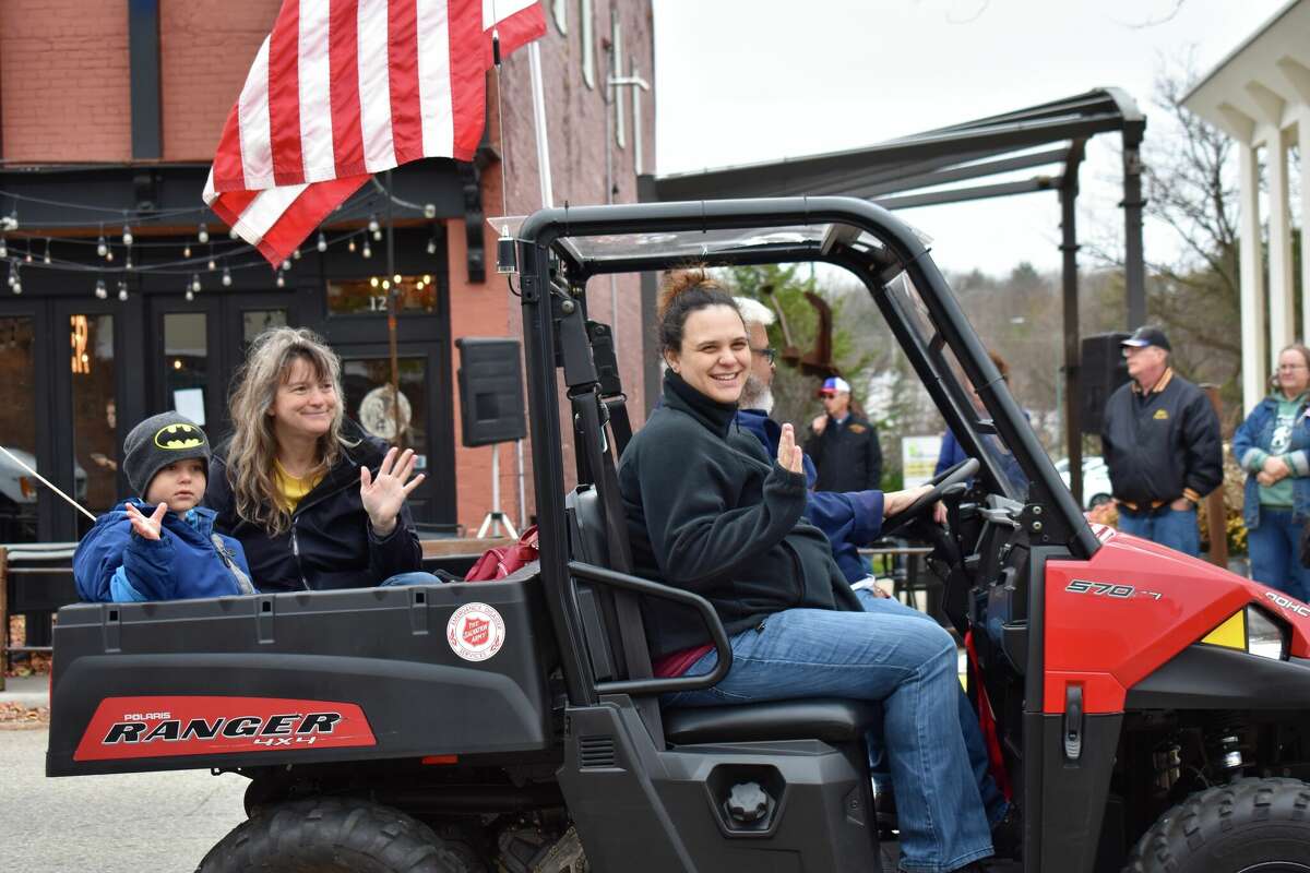
[[[389,806],[318,797],[267,806],[196,873],[474,873],[427,825]]]

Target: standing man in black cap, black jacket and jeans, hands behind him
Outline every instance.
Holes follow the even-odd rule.
[[[1119,529],[1199,555],[1196,504],[1224,480],[1220,420],[1169,365],[1169,339],[1138,327],[1123,342],[1131,381],[1106,403],[1100,442]]]

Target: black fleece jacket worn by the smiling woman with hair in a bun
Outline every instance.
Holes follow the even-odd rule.
[[[828,538],[802,520],[804,475],[770,459],[735,414],[665,374],[663,406],[618,463],[637,572],[709,599],[728,633],[796,606],[859,611]],[[647,598],[643,616],[654,657],[709,641],[668,601]]]

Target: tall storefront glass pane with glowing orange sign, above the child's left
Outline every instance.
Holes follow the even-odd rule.
[[[73,497],[100,514],[118,503],[118,383],[114,317],[69,315],[73,402]],[[79,534],[90,520],[77,513]]]

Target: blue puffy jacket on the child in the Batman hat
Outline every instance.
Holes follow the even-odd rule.
[[[143,514],[155,507],[131,500]],[[77,544],[73,579],[84,601],[172,601],[250,594],[241,543],[214,533],[215,513],[196,507],[181,517],[164,514],[159,539],[132,533],[126,503],[96,520]]]

